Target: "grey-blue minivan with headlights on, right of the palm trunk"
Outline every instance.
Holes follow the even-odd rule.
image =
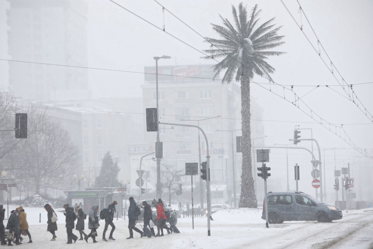
[[[342,219],[342,211],[332,205],[320,203],[303,192],[269,192],[267,195],[268,222],[317,221],[331,222]],[[266,219],[263,202],[262,219]]]

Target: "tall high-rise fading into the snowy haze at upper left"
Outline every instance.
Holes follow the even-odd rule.
[[[86,1],[8,2],[8,53],[13,60],[87,65]],[[37,101],[91,97],[85,70],[24,62],[9,62],[9,91]]]

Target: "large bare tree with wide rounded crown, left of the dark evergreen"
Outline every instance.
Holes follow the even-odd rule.
[[[72,187],[78,148],[59,123],[50,121],[45,113],[34,112],[28,117],[27,139],[19,141],[6,160],[17,178],[27,179],[28,188],[39,194],[41,188]]]

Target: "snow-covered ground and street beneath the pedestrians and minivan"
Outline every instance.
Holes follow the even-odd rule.
[[[10,210],[15,207],[10,207]],[[194,230],[192,218],[178,219],[177,227],[181,234],[167,234],[157,238],[140,239],[140,234],[134,232],[135,239],[126,240],[129,236],[128,219],[119,219],[114,223],[116,230],[114,242],[101,241],[104,222],[100,221],[97,237],[99,243],[92,240],[77,241],[78,245],[66,245],[65,216],[57,213],[59,217],[57,240],[51,242],[51,234],[47,232],[47,212],[42,208],[25,208],[29,231],[34,243],[27,248],[297,248],[297,249],[324,249],[324,248],[372,248],[373,245],[373,209],[350,210],[344,212],[344,218],[331,223],[317,222],[284,222],[270,225],[265,228],[265,222],[260,218],[261,209],[230,209],[221,210],[213,214],[211,221],[211,236],[207,236],[207,218],[195,217]],[[41,213],[41,223],[39,223]],[[4,221],[6,225],[7,221]],[[138,228],[141,228],[137,225]],[[110,230],[110,227],[109,227]],[[78,231],[73,231],[79,235]],[[89,233],[86,224],[86,233]],[[107,232],[106,237],[108,236]],[[28,242],[27,236],[24,243]]]

